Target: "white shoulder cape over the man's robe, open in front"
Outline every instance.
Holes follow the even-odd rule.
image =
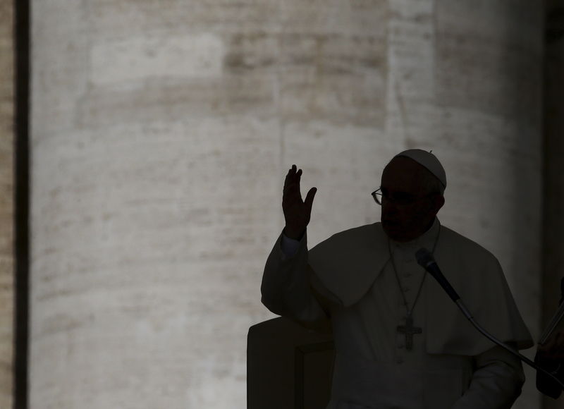
[[[434,258],[476,322],[486,331],[501,341],[517,343],[518,349],[534,345],[501,265],[491,252],[441,226]],[[317,291],[329,291],[343,307],[357,303],[369,291],[388,261],[388,236],[379,222],[336,233],[308,254],[308,264],[315,274],[313,285],[321,283],[324,288]],[[427,331],[424,331],[427,353],[478,355],[491,348],[491,341],[468,322],[439,283],[432,277],[428,279]]]

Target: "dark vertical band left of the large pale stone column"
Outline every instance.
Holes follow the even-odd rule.
[[[27,409],[29,312],[30,0],[14,7],[14,359],[13,408]]]

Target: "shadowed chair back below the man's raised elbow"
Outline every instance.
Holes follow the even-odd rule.
[[[325,409],[335,349],[331,334],[285,317],[247,334],[247,409]]]

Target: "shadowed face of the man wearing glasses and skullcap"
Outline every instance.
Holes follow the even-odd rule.
[[[405,242],[421,236],[443,206],[441,195],[424,197],[427,192],[422,180],[427,173],[429,171],[424,166],[407,157],[394,158],[384,169],[381,222],[384,231],[393,240]],[[390,197],[392,200],[386,200]],[[404,201],[407,203],[403,204]]]

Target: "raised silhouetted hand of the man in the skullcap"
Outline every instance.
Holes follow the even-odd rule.
[[[317,188],[309,189],[305,201],[302,201],[300,193],[300,178],[302,177],[302,169],[296,171],[296,166],[292,168],[286,175],[284,181],[284,190],[282,197],[282,209],[284,218],[286,219],[286,228],[284,231],[286,236],[299,240],[309,224],[312,214],[313,198],[317,192]]]

